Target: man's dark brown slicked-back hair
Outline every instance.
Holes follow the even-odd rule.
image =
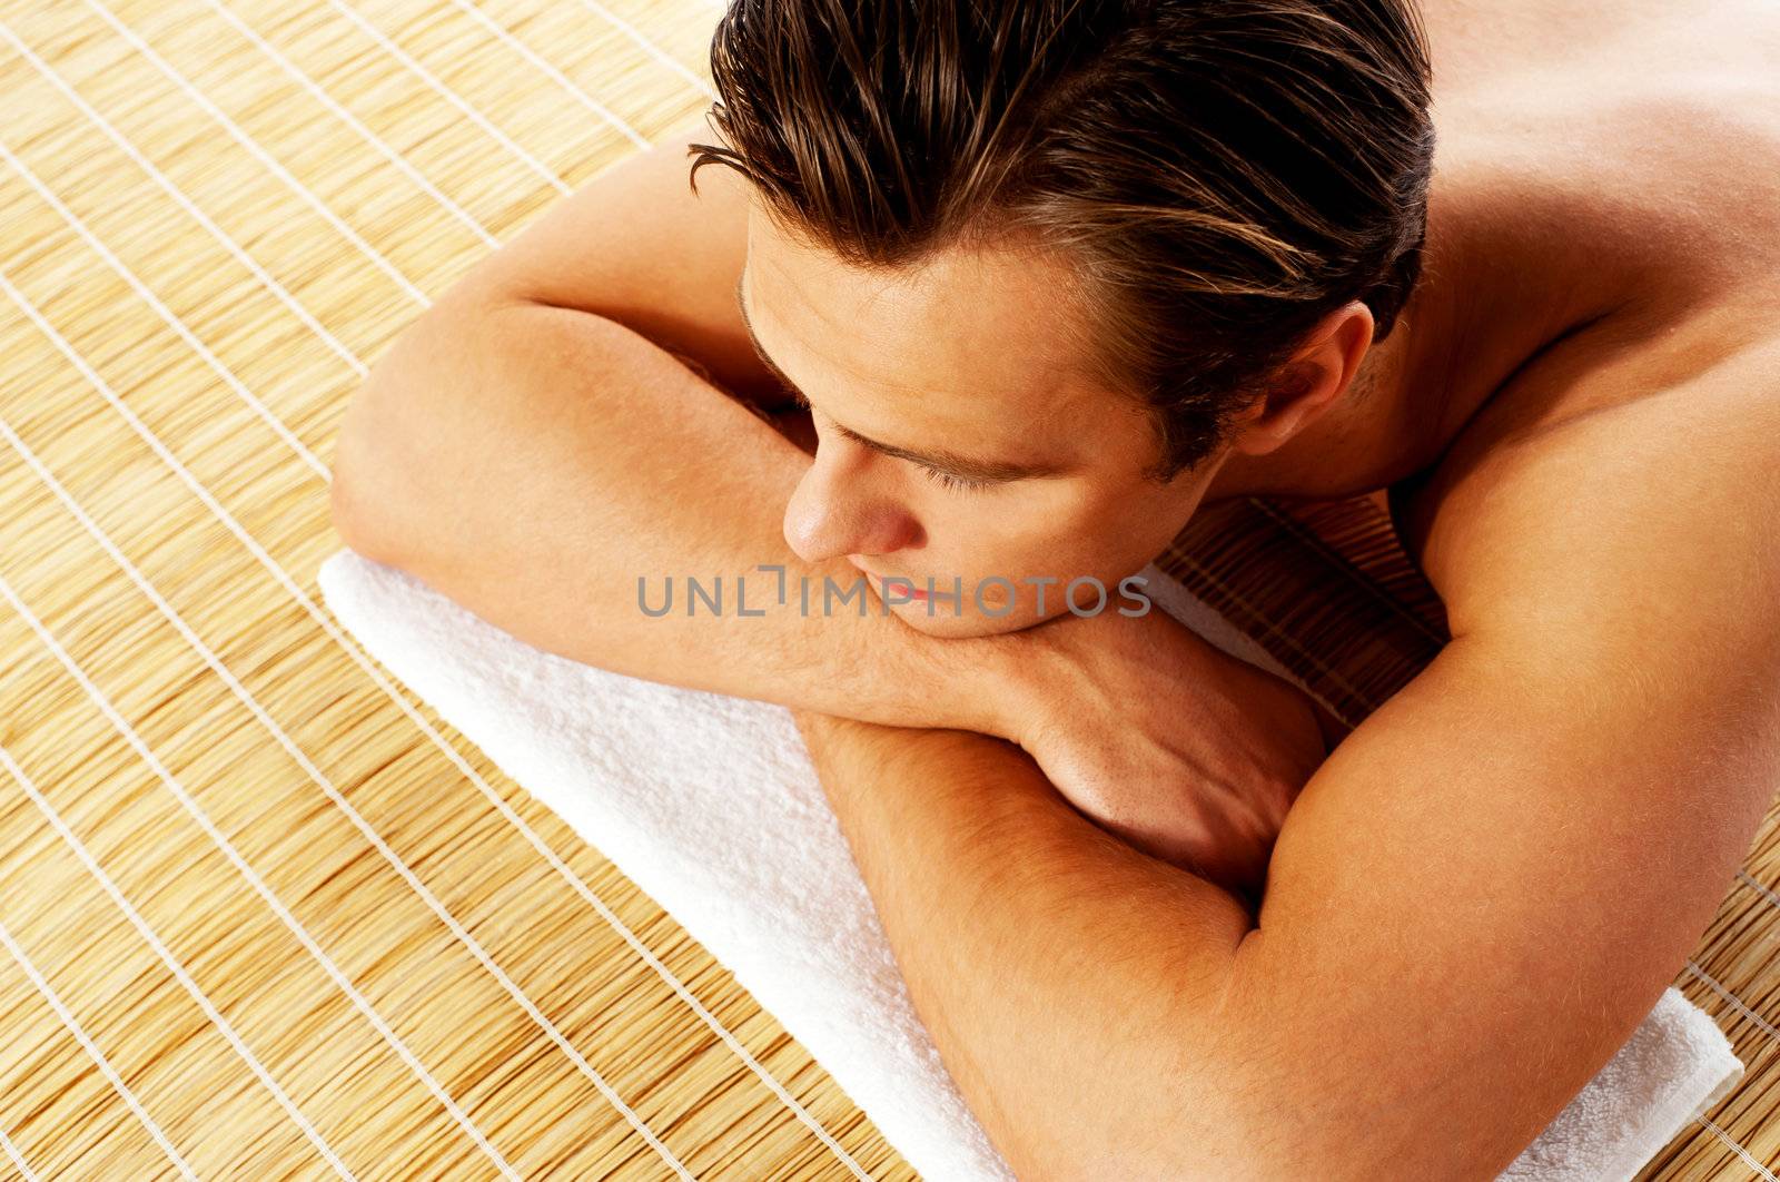
[[[1330,312],[1385,338],[1420,271],[1435,130],[1415,0],[733,0],[710,45],[735,167],[860,267],[1029,240],[1171,479]],[[689,176],[696,192],[698,185]]]

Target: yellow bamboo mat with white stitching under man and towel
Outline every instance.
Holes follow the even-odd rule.
[[[801,1045],[320,605],[347,399],[696,123],[701,0],[0,0],[9,1177],[906,1178]],[[1371,502],[1168,555],[1358,721],[1438,648]],[[1769,815],[1677,984],[1750,1065],[1645,1177],[1773,1178]]]

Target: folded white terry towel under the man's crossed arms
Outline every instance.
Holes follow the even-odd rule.
[[[1145,575],[1209,641],[1290,678],[1178,582]],[[351,550],[319,584],[374,657],[728,967],[915,1170],[1013,1177],[915,1016],[787,710],[539,652]],[[1671,986],[1502,1177],[1630,1178],[1741,1075],[1723,1032]]]

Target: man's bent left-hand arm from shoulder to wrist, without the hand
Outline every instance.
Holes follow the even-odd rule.
[[[1009,659],[1020,641],[922,636],[846,561],[799,561],[781,513],[810,457],[675,356],[696,351],[694,365],[742,392],[769,390],[733,308],[740,182],[707,167],[691,198],[678,141],[627,167],[472,271],[379,360],[335,456],[345,541],[603,669],[878,723],[1011,732],[1002,714],[1029,671]],[[673,224],[664,192],[685,206]],[[780,577],[760,566],[783,568],[783,605]],[[687,614],[687,577],[707,589],[723,579],[721,616],[705,603]],[[639,579],[651,609],[673,580],[666,616],[644,614]],[[853,598],[824,600],[824,579]]]

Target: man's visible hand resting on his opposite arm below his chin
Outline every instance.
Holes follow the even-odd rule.
[[[1104,830],[1258,901],[1285,812],[1328,753],[1312,700],[1161,609],[1024,636],[1032,692],[1006,737]]]

